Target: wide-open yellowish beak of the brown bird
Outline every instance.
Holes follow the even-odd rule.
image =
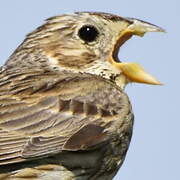
[[[114,48],[111,63],[116,68],[120,69],[130,82],[161,85],[161,83],[155,77],[145,72],[139,64],[132,62],[117,62],[116,58],[119,47],[130,39],[132,35],[143,36],[146,32],[165,32],[162,28],[153,24],[133,18],[127,19],[132,23],[120,33],[117,40],[117,45]]]

